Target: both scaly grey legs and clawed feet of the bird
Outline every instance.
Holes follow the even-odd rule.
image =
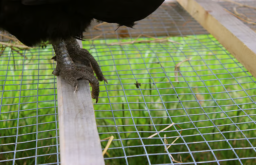
[[[60,75],[70,85],[74,87],[74,93],[78,90],[78,79],[88,80],[91,87],[91,96],[98,103],[99,81],[107,79],[103,76],[97,61],[86,49],[79,48],[79,44],[75,39],[61,41],[53,44],[56,56],[52,57],[57,61],[56,68],[52,72],[55,76]],[[74,61],[83,63],[86,67],[76,66]],[[94,76],[96,73],[97,78]]]

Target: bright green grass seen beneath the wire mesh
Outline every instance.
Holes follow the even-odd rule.
[[[180,155],[183,162],[191,163],[194,160],[196,162],[214,161],[214,155],[218,160],[236,159],[235,153],[230,150],[230,145],[237,148],[235,152],[239,158],[256,157],[255,151],[250,148],[251,144],[255,147],[255,139],[244,140],[244,135],[247,138],[256,137],[253,130],[256,129],[256,125],[252,122],[256,119],[255,78],[251,77],[249,72],[243,71],[245,69],[242,65],[212,36],[196,37],[200,40],[187,37],[170,38],[182,44],[138,43],[122,47],[108,46],[105,40],[96,40],[93,45],[89,41],[83,42],[84,48],[88,49],[99,62],[109,82],[108,85],[100,82],[99,104],[94,104],[100,139],[114,136],[110,146],[112,149],[110,148],[105,155],[107,165],[123,165],[126,161],[129,165],[147,165],[148,159],[151,164],[171,163],[168,155],[165,154],[163,139],[161,141],[158,135],[152,139],[147,137],[154,134],[156,129],[159,131],[172,122],[184,129],[183,138],[178,139],[175,145],[168,149],[177,161]],[[107,40],[107,43],[111,42],[117,42],[117,40]],[[17,129],[13,127],[17,127],[18,124],[16,120],[18,110],[20,110],[18,124],[20,128],[17,142],[24,143],[19,143],[16,150],[30,149],[16,152],[16,158],[31,157],[17,160],[17,165],[35,164],[35,154],[39,155],[37,164],[54,163],[57,159],[54,154],[57,151],[55,138],[57,90],[56,84],[55,86],[53,84],[56,80],[51,75],[54,68],[50,60],[52,49],[50,46],[48,49],[40,49],[39,56],[38,50],[35,48],[27,52],[27,60],[22,60],[23,57],[15,54],[16,71],[14,71],[14,65],[9,65],[6,78],[7,66],[3,65],[6,65],[9,58],[9,64],[14,64],[13,57],[6,50],[0,58],[1,85],[6,79],[1,100],[3,106],[0,116],[0,136],[12,136],[0,138],[0,144],[10,144],[0,146],[0,152],[15,149],[13,143],[16,142]],[[180,69],[183,77],[179,77],[179,83],[176,82],[173,72],[175,65],[190,57],[193,57],[191,61],[182,63]],[[23,62],[25,65],[22,73]],[[39,72],[38,69],[40,69]],[[136,80],[141,83],[140,89],[134,85]],[[21,83],[29,85],[20,86]],[[0,88],[3,90],[3,86]],[[246,93],[242,89],[245,89]],[[2,95],[2,92],[0,94]],[[45,94],[48,96],[43,96]],[[249,98],[248,95],[251,97]],[[197,99],[200,104],[196,101]],[[241,111],[241,109],[244,110]],[[36,117],[37,115],[39,116]],[[234,125],[233,122],[248,123]],[[36,127],[37,123],[40,123],[38,127]],[[237,131],[237,127],[245,130],[244,135]],[[177,126],[175,128],[180,130]],[[223,133],[221,134],[219,130]],[[163,138],[164,134],[168,143],[179,136],[174,127],[167,129],[165,133],[160,133],[160,136]],[[140,137],[142,140],[139,139]],[[231,139],[228,141],[229,144],[224,137],[227,140]],[[37,143],[34,141],[36,139],[39,139]],[[31,142],[25,143],[27,141]],[[188,143],[187,146],[184,142]],[[102,148],[106,144],[107,141],[102,142]],[[36,145],[41,147],[37,151]],[[52,146],[49,149],[50,145]],[[122,145],[125,149],[121,148]],[[145,154],[143,145],[148,154],[159,153],[159,155],[149,155],[148,158],[141,155]],[[209,151],[208,145],[215,150],[214,155]],[[193,152],[192,157],[188,153],[188,148]],[[51,157],[44,155],[49,153],[52,153]],[[127,160],[123,158],[124,154],[128,156]],[[13,159],[13,157],[14,152],[0,154],[0,160]],[[255,159],[243,159],[241,162],[256,163]],[[0,165],[2,164],[12,164],[12,161],[0,162]],[[240,163],[238,160],[230,160],[222,161],[220,164]]]

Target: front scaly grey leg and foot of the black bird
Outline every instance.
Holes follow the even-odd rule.
[[[77,79],[88,80],[92,87],[92,98],[98,102],[99,96],[99,81],[93,75],[93,71],[90,67],[77,67],[72,61],[66,44],[64,41],[53,43],[53,49],[56,56],[53,57],[57,61],[56,68],[53,71],[55,76],[61,76],[66,79],[70,85],[73,86],[74,92],[78,89]]]

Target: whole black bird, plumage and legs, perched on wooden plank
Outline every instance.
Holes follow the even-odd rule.
[[[106,81],[97,61],[81,49],[93,19],[132,28],[153,13],[164,0],[0,0],[0,30],[14,35],[23,44],[35,47],[49,41],[57,61],[53,74],[78,89],[77,79],[89,80],[92,98],[98,101],[99,81]],[[75,66],[73,61],[87,67]],[[97,78],[94,76],[95,72]],[[99,80],[99,81],[98,81]],[[74,91],[74,92],[75,92]]]

